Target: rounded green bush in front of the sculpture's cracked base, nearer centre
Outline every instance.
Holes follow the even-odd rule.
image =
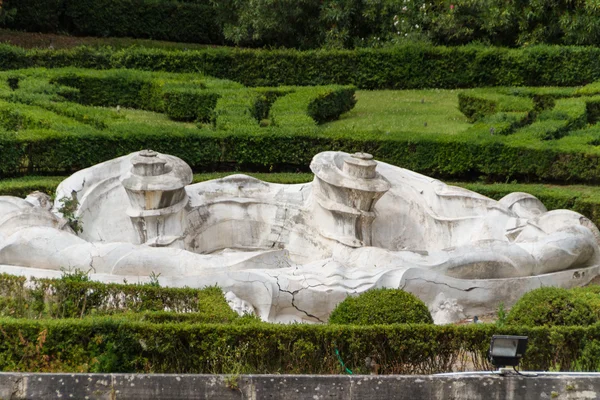
[[[372,289],[342,301],[329,317],[331,324],[432,324],[433,319],[415,295],[400,289]]]

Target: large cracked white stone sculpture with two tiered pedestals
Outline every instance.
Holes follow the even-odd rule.
[[[238,312],[277,322],[323,322],[348,295],[403,288],[438,323],[600,272],[594,224],[531,195],[494,201],[363,153],[320,153],[311,169],[307,184],[232,175],[191,185],[177,157],[107,161],[63,181],[53,210],[40,194],[0,197],[0,272],[217,284]],[[72,196],[77,234],[59,212]]]

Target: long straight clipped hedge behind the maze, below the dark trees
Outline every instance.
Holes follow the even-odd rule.
[[[0,69],[135,68],[203,72],[246,86],[350,84],[364,89],[577,86],[600,79],[600,48],[407,45],[357,50],[23,50],[0,45]]]

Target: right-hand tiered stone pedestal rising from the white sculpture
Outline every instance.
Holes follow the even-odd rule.
[[[370,246],[375,203],[390,189],[377,173],[373,156],[322,153],[310,168],[315,174],[314,216],[320,233],[347,246]]]

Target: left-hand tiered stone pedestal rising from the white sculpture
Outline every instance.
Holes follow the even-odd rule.
[[[129,197],[127,215],[138,234],[137,244],[183,248],[186,228],[185,186],[192,170],[182,160],[143,150],[131,160],[133,167],[121,179]]]

